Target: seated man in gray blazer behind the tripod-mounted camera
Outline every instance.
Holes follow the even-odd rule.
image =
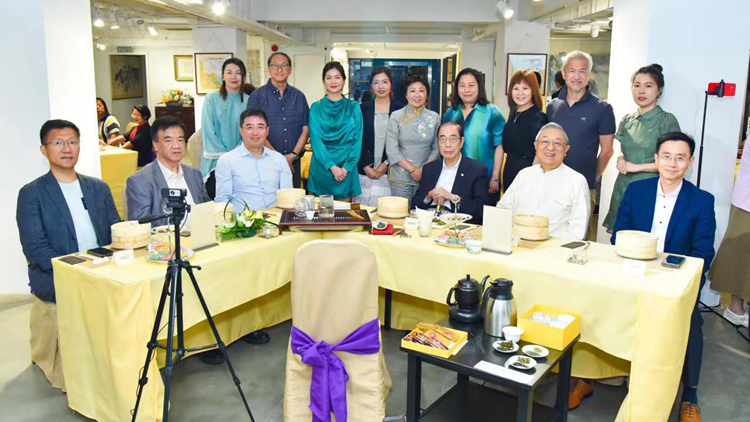
[[[161,190],[166,187],[187,189],[186,199],[190,205],[210,201],[200,170],[180,164],[186,150],[185,126],[182,122],[171,116],[154,120],[151,141],[156,160],[128,178],[128,220],[165,214]],[[167,219],[152,224],[164,225]]]

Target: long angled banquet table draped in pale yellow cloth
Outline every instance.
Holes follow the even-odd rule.
[[[416,233],[402,238],[366,232],[284,232],[273,239],[232,240],[191,259],[203,267],[196,277],[225,343],[291,317],[289,280],[296,250],[320,238],[365,243],[377,257],[381,287],[415,303],[434,304],[435,309],[444,306],[439,304],[461,276],[490,274],[513,280],[519,315],[534,304],[581,315],[581,342],[630,362],[630,392],[617,420],[668,419],[682,371],[701,260],[688,258],[681,269],[667,269],[659,265],[660,254],[647,262],[645,276],[634,276],[622,272],[622,258],[610,245],[592,244],[589,262],[576,265],[567,262],[570,250],[560,247],[567,240],[556,238],[523,242],[509,256],[469,255]],[[109,422],[128,418],[133,407],[164,266],[142,256],[123,267],[103,265],[53,261],[69,406]],[[186,347],[210,344],[212,336],[200,305],[190,285],[183,285]],[[409,303],[406,300],[402,308]],[[424,313],[409,315],[404,310],[394,315],[394,326],[412,328],[412,319],[419,318],[414,315]],[[445,317],[437,312],[438,316],[431,322]],[[162,332],[160,338],[165,337]],[[163,355],[158,361],[163,365]],[[150,372],[138,414],[143,421],[157,420],[161,414],[163,385],[156,365]],[[573,375],[583,375],[576,372],[575,363]]]

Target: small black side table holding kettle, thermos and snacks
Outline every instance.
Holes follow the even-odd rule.
[[[505,363],[510,357],[519,354],[524,355],[521,352],[521,348],[530,343],[520,342],[518,351],[515,353],[500,353],[492,347],[492,343],[500,339],[484,334],[481,323],[461,324],[449,321],[446,318],[438,324],[468,332],[469,341],[456,355],[449,358],[441,358],[401,348],[401,351],[409,355],[408,384],[406,390],[406,420],[408,422],[514,419],[518,422],[565,422],[567,420],[568,389],[570,385],[573,345],[578,342],[580,336],[576,337],[562,351],[547,348],[550,352],[549,356],[534,358],[537,361],[537,365],[528,371],[509,367],[508,370],[510,371],[517,371],[530,376],[530,378],[522,382],[485,372],[475,368],[474,365],[481,361],[486,361],[505,367]],[[458,382],[420,414],[422,361],[458,373]],[[534,389],[549,374],[550,370],[558,364],[559,377],[557,380],[557,400],[555,407],[534,403]],[[517,395],[514,396],[471,382],[469,381],[469,377],[513,389]]]

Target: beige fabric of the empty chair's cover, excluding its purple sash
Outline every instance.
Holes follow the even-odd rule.
[[[335,345],[378,317],[378,268],[375,255],[352,240],[316,240],[297,251],[292,275],[292,321],[315,341]],[[382,343],[381,343],[382,344]],[[380,352],[334,352],[349,374],[346,401],[349,422],[385,418],[391,376]],[[310,422],[312,367],[287,350],[284,421]],[[333,420],[333,415],[331,415]]]

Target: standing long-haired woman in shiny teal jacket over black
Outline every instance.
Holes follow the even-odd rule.
[[[456,122],[464,129],[465,156],[487,166],[490,177],[490,201],[497,202],[500,192],[500,170],[503,168],[503,128],[505,117],[487,100],[479,71],[466,68],[453,82],[453,106],[443,115],[443,123]]]

